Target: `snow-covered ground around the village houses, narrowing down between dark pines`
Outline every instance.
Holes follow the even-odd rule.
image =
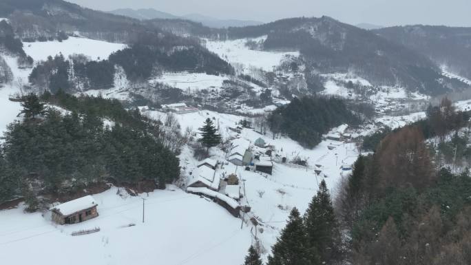
[[[157,111],[147,111],[145,114],[161,120],[167,115]],[[242,119],[241,116],[201,111],[176,114],[176,117],[182,131],[189,128],[189,131],[196,134],[198,127],[201,127],[207,118],[211,118],[216,127],[220,128],[220,134],[224,139],[240,137],[249,140],[253,145],[256,139],[262,138],[267,144],[274,146],[273,159],[275,162],[272,176],[254,171],[244,171],[242,167],[236,167],[231,163],[224,165],[223,169],[226,176],[236,173],[240,179],[244,180],[244,198],[241,200],[241,204],[251,206],[249,216],[254,216],[262,222],[264,232],[258,233],[258,238],[267,251],[275,243],[278,233],[286,224],[291,209],[295,206],[300,211],[305,211],[323,178],[335,193],[335,187],[344,176],[342,175],[342,165],[352,165],[358,155],[354,143],[324,140],[314,149],[305,149],[289,138],[273,139],[271,134],[264,136],[253,129],[242,129],[242,133],[238,135],[229,127],[236,127],[236,124]],[[266,149],[258,147],[252,148],[255,152],[266,151]],[[225,161],[226,159],[226,153],[219,149],[212,149],[211,155],[216,160]],[[308,167],[290,163],[284,164],[281,162],[282,157],[286,157],[289,162],[297,157],[307,160]],[[185,174],[189,176],[189,172],[194,171],[197,164],[191,150],[185,148],[180,155],[180,167],[184,168]],[[320,167],[315,165],[320,165]],[[320,169],[322,173],[317,176],[315,169]],[[260,196],[260,193],[263,195]],[[253,231],[253,233],[255,232]]]

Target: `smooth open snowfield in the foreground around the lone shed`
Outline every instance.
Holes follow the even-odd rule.
[[[117,191],[94,195],[99,216],[80,224],[56,226],[41,213],[23,213],[22,207],[1,211],[2,264],[243,263],[251,244],[248,228],[241,230],[240,220],[217,204],[174,187],[140,197],[122,198]],[[70,235],[95,227],[101,231]]]

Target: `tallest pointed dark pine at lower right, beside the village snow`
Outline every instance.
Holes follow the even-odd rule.
[[[330,264],[338,254],[339,231],[333,210],[331,194],[322,180],[317,195],[304,215],[308,247],[315,249],[322,262]]]

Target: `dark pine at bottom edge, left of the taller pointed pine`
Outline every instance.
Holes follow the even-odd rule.
[[[308,240],[300,212],[293,208],[288,224],[273,245],[268,265],[314,265],[319,264],[317,253],[308,249]]]

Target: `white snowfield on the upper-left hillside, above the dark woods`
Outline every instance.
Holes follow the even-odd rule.
[[[34,61],[45,61],[48,56],[54,56],[61,52],[65,58],[72,54],[85,54],[92,60],[107,59],[109,54],[123,50],[127,45],[121,43],[109,43],[92,39],[69,37],[59,41],[45,41],[24,43],[23,49]]]

